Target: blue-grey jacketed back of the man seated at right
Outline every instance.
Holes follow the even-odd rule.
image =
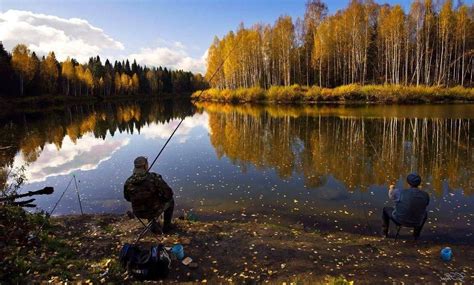
[[[430,197],[425,191],[409,188],[399,192],[393,217],[404,225],[418,226],[426,215]]]

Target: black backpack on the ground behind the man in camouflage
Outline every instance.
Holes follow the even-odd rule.
[[[126,243],[119,256],[120,264],[138,280],[166,278],[171,259],[163,244],[143,247]]]

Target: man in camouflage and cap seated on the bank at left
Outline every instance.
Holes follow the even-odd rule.
[[[141,219],[152,220],[164,212],[163,232],[172,229],[174,199],[173,190],[161,175],[148,172],[146,157],[137,157],[135,168],[124,185],[125,200],[132,203],[133,213]]]

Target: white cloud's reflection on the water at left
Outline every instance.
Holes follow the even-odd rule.
[[[32,183],[52,176],[68,175],[78,170],[93,170],[129,142],[129,138],[103,140],[88,133],[74,143],[66,136],[59,150],[54,144],[46,144],[38,159],[28,165],[25,175],[28,183]],[[23,155],[18,153],[14,166],[21,165],[25,165],[25,161]]]

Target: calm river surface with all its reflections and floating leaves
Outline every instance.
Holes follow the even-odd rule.
[[[431,195],[424,235],[474,240],[474,105],[79,105],[0,118],[0,160],[27,165],[22,191],[55,187],[41,209],[75,174],[85,212],[124,213],[133,159],[152,160],[183,117],[154,167],[177,215],[375,233],[388,184],[417,171]],[[78,212],[71,187],[55,214]]]

